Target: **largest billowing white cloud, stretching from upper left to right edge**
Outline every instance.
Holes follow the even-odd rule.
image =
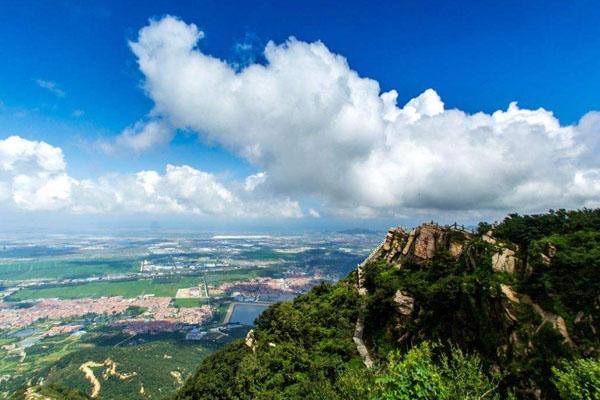
[[[339,215],[406,209],[578,207],[600,199],[599,117],[561,126],[511,103],[492,114],[446,109],[432,89],[397,104],[321,42],[269,42],[241,70],[203,53],[174,17],[150,21],[130,47],[153,115],[244,157],[278,195],[314,196]],[[595,153],[597,154],[597,153]]]

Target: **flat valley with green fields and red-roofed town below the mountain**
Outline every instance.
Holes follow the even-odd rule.
[[[377,240],[335,233],[4,240],[0,398],[39,383],[94,398],[173,393],[204,357],[244,337],[268,305],[337,281]]]

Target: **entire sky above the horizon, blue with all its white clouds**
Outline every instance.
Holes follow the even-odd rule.
[[[5,230],[381,228],[600,205],[593,1],[0,9]]]

